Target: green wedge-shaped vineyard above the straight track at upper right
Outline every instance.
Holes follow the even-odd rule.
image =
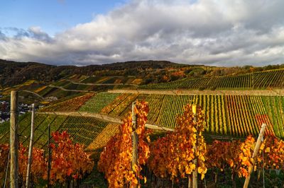
[[[266,89],[284,88],[284,69],[261,71],[237,76],[214,76],[208,78],[190,78],[169,83],[139,86],[147,90],[229,90],[229,89]]]

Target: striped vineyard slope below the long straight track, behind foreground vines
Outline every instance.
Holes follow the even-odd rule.
[[[182,113],[182,107],[187,103],[195,103],[201,105],[204,110],[206,134],[237,137],[257,135],[261,124],[265,122],[268,124],[266,134],[284,138],[284,96],[97,93],[80,107],[80,112],[108,114],[119,119],[129,113],[131,102],[136,99],[148,101],[148,124],[174,128],[175,118]],[[62,107],[63,110],[70,108],[72,112],[77,109],[77,104],[62,102],[58,103],[58,107]],[[60,112],[60,108],[57,110]],[[97,118],[84,117],[84,113],[82,117],[36,114],[35,146],[46,148],[50,124],[51,131],[67,130],[74,141],[84,144],[87,150],[102,148],[119,130],[119,124]],[[31,114],[19,117],[18,122],[20,141],[27,146]],[[9,142],[9,129],[9,122],[1,124],[0,143]]]

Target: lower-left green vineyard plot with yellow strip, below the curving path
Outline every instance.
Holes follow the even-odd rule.
[[[50,131],[68,131],[73,141],[81,143],[87,150],[102,148],[119,130],[119,124],[104,122],[93,117],[67,117],[58,115],[35,115],[34,146],[46,149],[48,146],[48,124]],[[31,134],[31,114],[27,113],[18,119],[19,140],[28,146]],[[9,143],[9,122],[1,124],[0,143]]]

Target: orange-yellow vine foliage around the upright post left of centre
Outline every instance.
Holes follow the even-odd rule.
[[[140,172],[150,154],[148,146],[150,139],[148,138],[148,131],[145,129],[148,115],[147,103],[137,101],[135,111],[137,114],[138,165],[132,170],[131,132],[133,127],[131,113],[129,113],[124,119],[124,123],[121,124],[119,134],[112,137],[99,158],[99,171],[104,172],[109,187],[124,187],[126,184],[129,184],[130,187],[136,187],[138,178],[144,178],[140,175]]]

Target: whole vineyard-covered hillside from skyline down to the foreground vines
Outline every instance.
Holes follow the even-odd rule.
[[[0,102],[9,100],[11,90],[19,91],[23,103],[36,102],[34,146],[45,151],[50,125],[51,131],[67,131],[99,158],[136,100],[148,102],[146,128],[153,130],[152,141],[177,128],[176,117],[186,104],[202,107],[209,144],[257,136],[262,123],[268,125],[265,136],[284,138],[281,65],[226,68],[129,61],[77,67],[4,61],[1,68]],[[31,113],[18,118],[18,128],[19,140],[28,146]],[[1,124],[0,144],[9,142],[9,131],[9,122]]]

